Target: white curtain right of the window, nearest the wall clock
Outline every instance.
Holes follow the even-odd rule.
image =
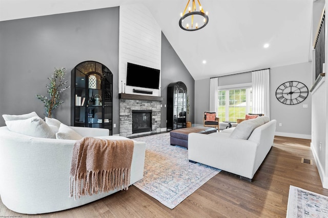
[[[270,69],[252,71],[252,113],[263,113],[270,118]]]

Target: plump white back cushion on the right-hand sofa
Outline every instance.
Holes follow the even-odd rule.
[[[252,134],[253,130],[264,124],[264,119],[260,119],[260,117],[255,119],[244,120],[234,129],[231,133],[231,138],[238,139],[248,139]]]

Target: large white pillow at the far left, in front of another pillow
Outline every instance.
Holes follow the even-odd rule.
[[[6,121],[6,125],[12,132],[38,138],[55,138],[55,133],[50,129],[48,124],[38,116],[27,119],[8,120]]]

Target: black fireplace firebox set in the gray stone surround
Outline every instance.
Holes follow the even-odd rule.
[[[132,110],[132,133],[152,131],[152,110]]]

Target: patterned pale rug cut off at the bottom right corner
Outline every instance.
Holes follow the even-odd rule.
[[[328,217],[328,197],[291,185],[286,217]]]

